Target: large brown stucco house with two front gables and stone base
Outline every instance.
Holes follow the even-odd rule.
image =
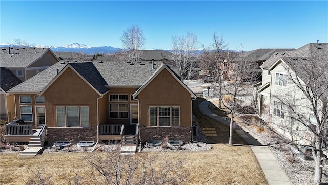
[[[192,140],[195,95],[161,62],[58,62],[10,93],[17,119],[31,129],[46,124],[50,143],[122,134],[139,134],[141,142]]]

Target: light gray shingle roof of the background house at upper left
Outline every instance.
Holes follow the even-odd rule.
[[[1,67],[27,67],[42,57],[49,48],[12,48],[2,47],[0,51]]]

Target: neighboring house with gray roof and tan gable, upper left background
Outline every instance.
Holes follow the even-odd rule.
[[[49,48],[1,48],[1,66],[25,81],[59,60]]]

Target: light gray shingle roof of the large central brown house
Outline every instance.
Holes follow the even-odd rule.
[[[86,62],[90,63],[90,61],[79,61],[77,63],[86,63]],[[47,68],[46,70],[38,73],[32,78],[12,88],[10,91],[12,92],[31,91],[31,92],[39,93],[51,82],[53,78],[56,77],[57,69],[60,72],[68,64],[70,64],[72,67],[77,67],[78,69],[84,65],[84,64],[80,65],[72,62],[64,63],[64,64],[62,63],[64,62],[57,62],[53,66]],[[99,61],[92,61],[92,64],[96,67],[101,77],[103,77],[103,79],[106,81],[107,85],[129,86],[129,87],[142,86],[153,75],[153,73],[157,70],[157,68],[163,65],[163,63],[161,62],[154,62],[155,69],[151,70],[152,66],[149,62],[145,62],[145,63],[135,62],[133,63],[133,65],[130,65],[132,63],[118,62],[118,61],[103,61],[102,63],[100,63]],[[80,71],[80,72],[85,73],[86,71]],[[93,76],[86,77],[86,78],[92,81],[91,80],[92,77]],[[98,83],[101,81],[101,79],[97,79],[96,81]]]

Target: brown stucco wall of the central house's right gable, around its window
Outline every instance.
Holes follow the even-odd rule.
[[[149,126],[149,106],[180,106],[180,126],[191,126],[191,95],[167,69],[139,93],[138,99],[140,125]]]

